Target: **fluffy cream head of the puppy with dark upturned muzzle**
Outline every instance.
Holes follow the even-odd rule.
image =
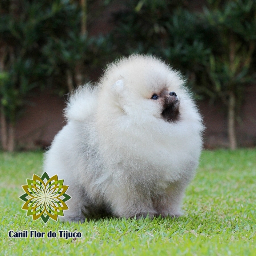
[[[183,80],[155,57],[132,55],[119,60],[108,67],[101,84],[105,95],[126,115],[153,115],[166,122],[180,118]]]

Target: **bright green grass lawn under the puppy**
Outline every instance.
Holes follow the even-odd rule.
[[[256,149],[204,151],[179,219],[33,222],[21,185],[42,152],[0,153],[0,255],[256,255]],[[81,231],[76,240],[9,238],[9,230]]]

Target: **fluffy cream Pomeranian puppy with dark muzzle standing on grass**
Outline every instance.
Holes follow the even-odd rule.
[[[64,220],[179,216],[202,149],[202,118],[180,74],[131,55],[69,97],[44,171],[69,186]]]

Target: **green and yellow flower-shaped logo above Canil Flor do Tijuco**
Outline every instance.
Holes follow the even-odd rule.
[[[57,221],[58,216],[64,216],[63,211],[68,210],[65,203],[71,196],[65,194],[68,189],[63,185],[64,180],[58,180],[58,175],[49,178],[46,172],[40,178],[33,174],[33,179],[27,179],[27,185],[22,188],[25,194],[20,199],[25,201],[22,208],[27,211],[27,216],[33,220],[41,218],[46,223],[49,218]]]

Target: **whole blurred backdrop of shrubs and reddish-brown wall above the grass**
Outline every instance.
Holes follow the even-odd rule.
[[[0,149],[50,146],[67,93],[134,52],[187,79],[205,148],[256,145],[255,0],[0,0]]]

